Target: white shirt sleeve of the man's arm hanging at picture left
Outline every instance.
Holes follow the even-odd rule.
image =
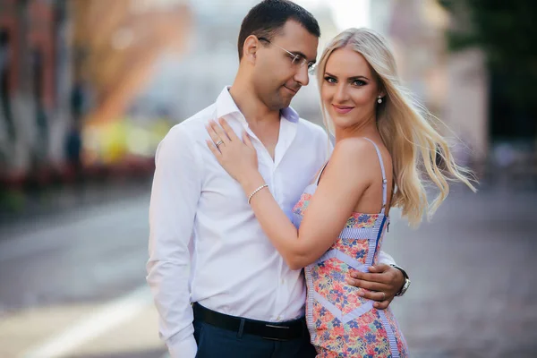
[[[158,310],[159,336],[172,358],[194,358],[189,277],[201,160],[188,132],[175,126],[158,145],[149,204],[146,277]]]

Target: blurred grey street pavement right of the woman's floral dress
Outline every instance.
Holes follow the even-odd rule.
[[[413,357],[537,355],[537,192],[453,192],[414,231],[392,218],[385,250],[412,288],[396,317]]]

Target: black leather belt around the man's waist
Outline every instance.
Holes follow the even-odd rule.
[[[265,339],[277,341],[297,339],[303,337],[307,329],[304,319],[276,323],[264,322],[262,320],[243,319],[212,311],[201,306],[200,303],[192,303],[192,308],[194,311],[194,320],[200,320],[218,328],[232,330],[237,333],[241,332],[241,334],[259,336]]]

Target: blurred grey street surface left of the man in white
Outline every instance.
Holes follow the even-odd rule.
[[[0,357],[161,356],[145,285],[147,188],[0,237]]]

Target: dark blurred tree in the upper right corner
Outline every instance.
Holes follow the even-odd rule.
[[[492,139],[537,135],[537,2],[533,0],[439,0],[452,13],[451,50],[480,47],[490,72]]]

